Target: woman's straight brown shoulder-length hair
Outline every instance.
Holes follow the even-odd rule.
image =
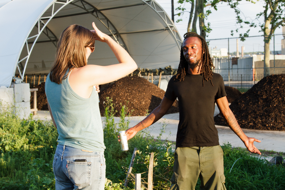
[[[85,47],[94,46],[95,39],[90,30],[73,24],[64,29],[60,34],[56,58],[50,70],[50,80],[60,84],[66,79],[66,72],[71,68],[79,68],[87,65]]]

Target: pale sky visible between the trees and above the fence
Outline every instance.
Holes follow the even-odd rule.
[[[156,0],[156,2],[166,11],[166,13],[171,18],[171,0]],[[177,0],[174,0],[174,9],[176,9],[180,4],[176,3]],[[264,10],[264,1],[257,1],[255,4],[248,2],[246,0],[242,0],[240,2],[240,5],[238,5],[238,8],[241,11],[241,17],[244,20],[247,20],[249,22],[253,21],[256,18],[256,15]],[[184,8],[186,8],[186,11],[191,10],[191,3],[185,3]],[[217,11],[213,9],[211,6],[205,7],[204,11],[211,10],[212,13],[209,15],[208,19],[205,20],[205,24],[208,22],[211,23],[212,31],[208,33],[207,39],[220,39],[220,38],[233,38],[238,37],[239,33],[243,34],[246,30],[248,30],[250,27],[247,25],[243,25],[243,29],[239,29],[239,33],[236,33],[235,30],[239,28],[239,24],[236,23],[236,14],[233,9],[227,5],[225,2],[220,2],[217,6]],[[177,14],[178,11],[174,10],[174,14]],[[188,26],[188,20],[189,20],[190,13],[185,12],[182,16],[174,16],[174,20],[177,21],[178,19],[182,19],[179,23],[175,22],[175,26],[178,29],[179,34],[183,38],[183,34],[187,32],[187,26]],[[262,23],[264,21],[264,17],[260,18],[259,21],[256,20],[256,23]],[[231,36],[231,30],[234,30],[234,35]],[[262,32],[259,32],[260,27],[257,26],[256,28],[251,28],[249,32],[249,36],[258,36],[262,35]],[[197,21],[197,31],[198,34],[200,34],[199,30],[199,21]],[[277,28],[275,30],[275,34],[282,34],[282,28]],[[277,36],[275,37],[275,50],[281,50],[281,39],[283,39],[283,36]],[[227,40],[214,40],[215,44],[211,44],[210,46],[217,48],[227,48]],[[273,40],[272,40],[273,41]],[[212,41],[210,41],[212,42]],[[230,40],[230,52],[236,51],[236,39]],[[239,41],[239,46],[245,46],[245,52],[249,51],[263,51],[263,38],[248,38],[245,42]],[[239,48],[241,52],[241,47]],[[273,50],[273,43],[270,46],[270,50]]]

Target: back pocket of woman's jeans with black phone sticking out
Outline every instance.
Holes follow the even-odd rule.
[[[67,161],[69,179],[81,189],[90,183],[91,162]]]

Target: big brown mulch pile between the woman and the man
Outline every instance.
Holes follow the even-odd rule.
[[[160,104],[164,94],[165,91],[142,77],[132,76],[121,78],[99,93],[101,116],[104,114],[103,101],[106,101],[106,97],[113,99],[115,110],[117,110],[115,116],[119,116],[120,103],[127,105],[129,111],[134,110],[131,116],[144,116],[146,110],[149,110],[150,113]],[[127,103],[126,101],[129,102]],[[178,101],[175,101],[167,114],[178,112]]]

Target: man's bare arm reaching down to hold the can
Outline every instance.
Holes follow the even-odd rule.
[[[156,121],[162,118],[162,116],[167,113],[173,103],[174,101],[171,101],[164,96],[160,105],[156,107],[150,114],[148,114],[144,120],[126,131],[125,134],[127,135],[127,139],[129,140],[130,138],[133,138],[137,132],[154,124]]]

